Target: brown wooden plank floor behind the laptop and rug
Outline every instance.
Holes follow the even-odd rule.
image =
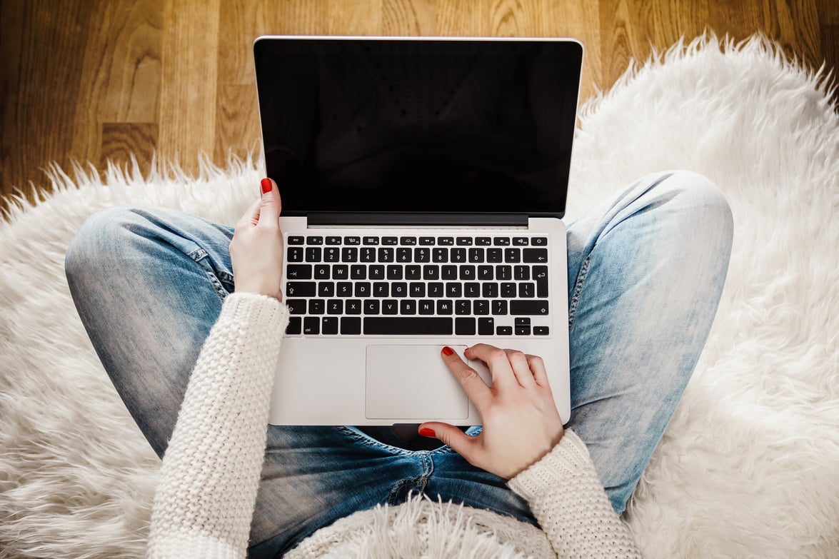
[[[572,36],[585,99],[706,29],[839,64],[837,0],[2,0],[0,196],[46,185],[51,161],[148,170],[156,151],[195,172],[199,150],[223,165],[257,147],[259,34]]]

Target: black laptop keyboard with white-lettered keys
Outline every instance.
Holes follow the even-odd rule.
[[[547,336],[548,238],[286,237],[289,336]]]

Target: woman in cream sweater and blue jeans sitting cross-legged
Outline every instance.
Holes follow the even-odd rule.
[[[120,206],[91,217],[68,250],[91,342],[164,457],[149,556],[345,556],[365,546],[639,556],[618,515],[696,365],[731,250],[731,212],[709,180],[649,175],[568,227],[565,429],[538,357],[470,347],[466,357],[492,372],[487,386],[444,348],[484,425],[467,435],[425,423],[419,434],[440,442],[431,450],[355,427],[266,431],[288,316],[280,209],[271,180],[235,230]],[[376,509],[398,513],[412,494],[429,499],[411,503],[422,514],[407,529]],[[446,541],[430,541],[430,526],[446,521]]]

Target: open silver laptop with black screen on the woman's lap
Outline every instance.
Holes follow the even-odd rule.
[[[440,358],[479,342],[543,358],[567,422],[582,45],[263,36],[253,52],[290,308],[269,423],[481,425]]]

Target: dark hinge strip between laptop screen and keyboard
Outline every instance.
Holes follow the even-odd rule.
[[[310,226],[401,226],[401,227],[527,227],[524,213],[360,213],[313,212]]]

